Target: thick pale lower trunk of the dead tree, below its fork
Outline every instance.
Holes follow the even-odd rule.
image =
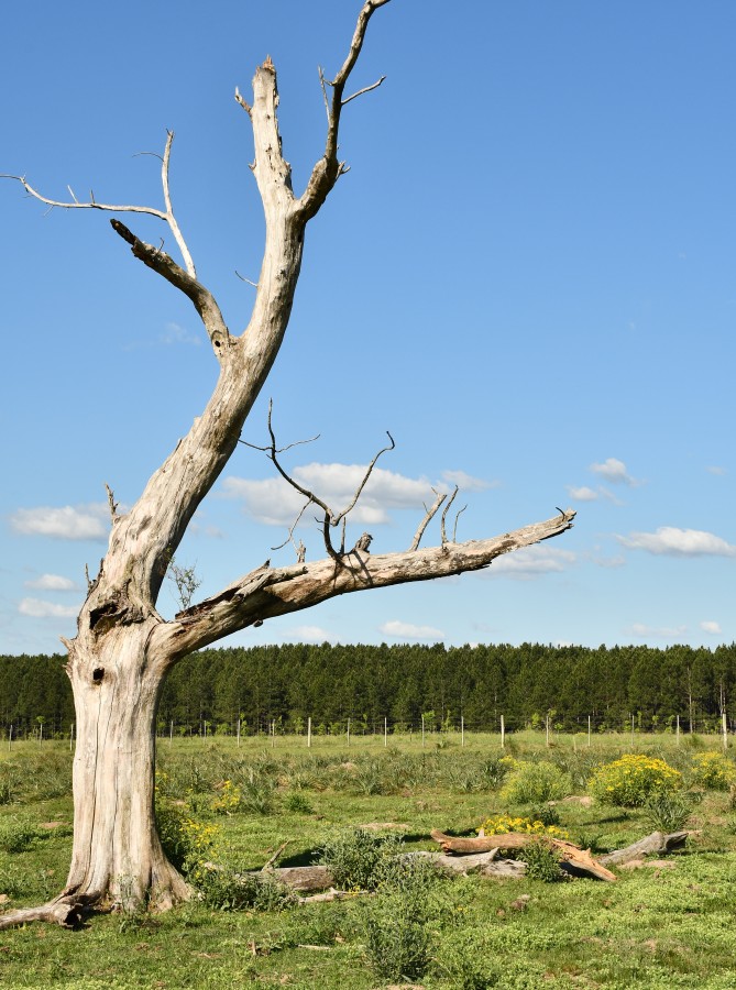
[[[168,908],[189,889],[168,862],[155,823],[155,719],[165,667],[152,622],[75,645],[68,671],[77,718],[74,848],[64,893],[81,903]]]

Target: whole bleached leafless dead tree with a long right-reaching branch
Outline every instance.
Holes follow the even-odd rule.
[[[248,626],[345,592],[487,566],[502,553],[557,536],[572,525],[574,514],[561,512],[547,521],[492,539],[457,543],[444,538],[441,546],[431,549],[413,547],[405,552],[372,556],[361,541],[349,553],[336,550],[329,540],[334,518],[326,510],[327,556],[322,560],[297,560],[284,568],[264,563],[171,622],[156,610],[172,556],[235,450],[284,340],[307,224],[347,170],[338,157],[343,108],[382,81],[352,94],[345,88],[369,22],[387,2],[364,0],[341,68],[330,81],[320,73],[327,138],[325,152],[301,195],[292,188],[290,168],[282,153],[276,69],[271,58],[255,70],[252,102],[235,91],[253,131],[252,170],[265,213],[265,246],[255,300],[240,334],[230,331],[213,295],[199,280],[176,222],[168,184],[172,133],[162,158],[164,209],[94,199],[81,202],[74,194],[69,201],[58,202],[34,189],[25,177],[12,177],[31,196],[53,207],[116,213],[110,221],[112,229],[133,256],[191,301],[219,363],[219,377],[206,408],[152,475],[130,512],[119,514],[111,499],[107,553],[90,581],[77,634],[65,641],[77,725],[74,847],[68,879],[62,893],[47,905],[1,915],[0,928],[43,917],[68,923],[90,908],[105,909],[125,901],[164,909],[190,895],[186,881],[164,855],[154,817],[156,706],[166,674],[182,657]],[[123,213],[141,212],[168,226],[180,263],[163,246],[145,243],[118,219]]]

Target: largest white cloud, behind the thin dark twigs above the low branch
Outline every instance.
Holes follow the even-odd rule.
[[[293,477],[303,487],[314,492],[334,512],[350,504],[355,490],[365,475],[362,464],[319,464],[312,462],[295,468]],[[251,481],[227,477],[222,483],[226,495],[242,499],[245,512],[268,526],[290,526],[305,504],[304,495],[295,491],[282,477]],[[388,521],[388,508],[421,509],[424,502],[432,497],[431,483],[425,479],[405,477],[393,471],[374,468],[361,498],[350,514],[353,522],[377,526]],[[311,507],[306,514],[319,514]]]

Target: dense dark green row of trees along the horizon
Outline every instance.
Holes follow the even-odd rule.
[[[75,721],[65,658],[0,656],[0,732],[66,732]],[[509,728],[540,724],[639,729],[736,719],[736,644],[444,647],[284,645],[206,649],[172,671],[160,727],[177,732],[355,733],[393,727]]]

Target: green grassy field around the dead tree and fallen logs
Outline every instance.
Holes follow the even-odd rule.
[[[464,747],[459,736],[428,737],[424,748],[416,737],[345,741],[163,740],[160,804],[215,825],[207,855],[227,867],[260,869],[283,843],[277,865],[305,865],[350,826],[398,836],[410,850],[433,848],[431,828],[470,834],[491,815],[536,817],[542,802],[530,809],[504,790],[518,761],[553,763],[565,792],[583,795],[597,766],[636,752],[682,773],[685,827],[696,834],[667,865],[620,869],[615,883],[417,876],[326,904],[272,897],[270,906],[261,898],[265,910],[233,911],[195,900],[162,915],[100,915],[79,932],[31,925],[0,934],[0,985],[367,990],[408,986],[404,968],[427,990],[736,987],[736,811],[728,790],[704,787],[697,770],[719,739],[605,736],[589,747],[584,735],[556,736],[548,748],[543,735],[515,734],[504,751],[497,736],[466,736]],[[64,883],[70,760],[68,741],[0,751],[0,910]],[[736,776],[730,751],[727,770]],[[594,853],[653,831],[651,806],[559,802],[554,812]]]

